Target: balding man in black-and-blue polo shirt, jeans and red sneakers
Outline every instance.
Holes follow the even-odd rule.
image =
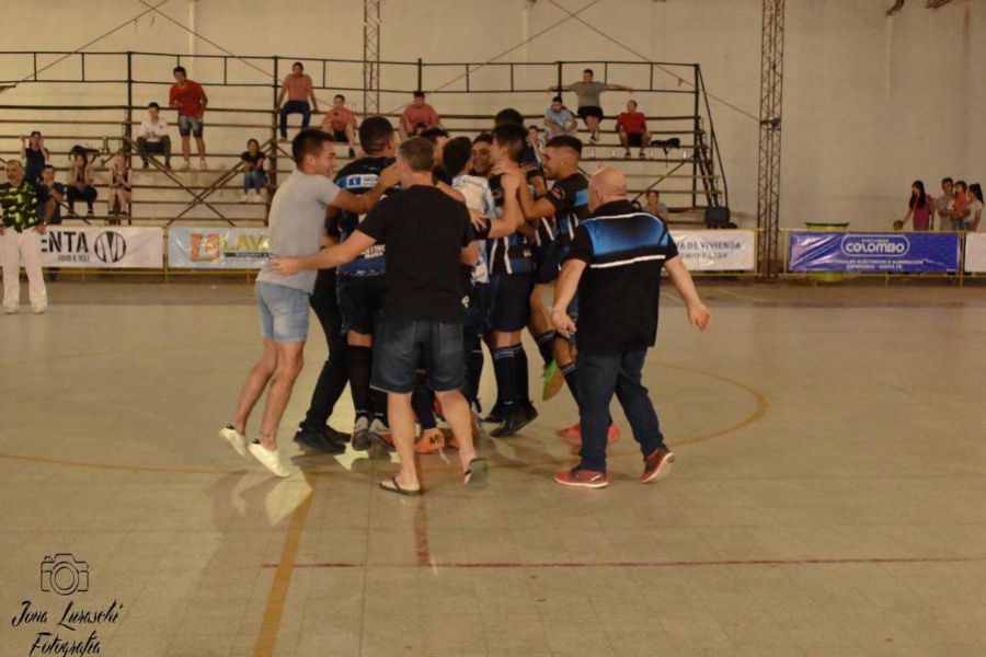
[[[598,171],[589,184],[592,216],[575,239],[558,280],[551,321],[569,336],[575,323],[567,307],[578,293],[578,413],[582,462],[554,480],[566,486],[601,488],[606,479],[606,433],[614,393],[627,414],[644,456],[641,482],[667,475],[674,454],[664,445],[641,371],[657,336],[661,269],[667,267],[692,326],[706,331],[712,315],[678,257],[667,224],[634,210],[627,180],[616,169]]]

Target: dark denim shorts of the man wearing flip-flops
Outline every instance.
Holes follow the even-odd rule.
[[[381,319],[374,341],[370,387],[410,394],[422,365],[429,389],[460,390],[466,379],[462,324]]]

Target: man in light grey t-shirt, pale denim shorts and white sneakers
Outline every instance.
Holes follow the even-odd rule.
[[[324,237],[325,211],[332,206],[359,215],[368,212],[383,191],[398,182],[395,168],[383,170],[377,186],[356,196],[340,189],[330,176],[335,169],[332,136],[303,129],[291,143],[297,170],[288,176],[271,205],[268,251],[272,256],[318,253]],[[290,399],[295,379],[301,372],[301,354],[308,337],[309,297],[316,273],[282,276],[264,266],[256,277],[254,296],[261,314],[264,353],[243,384],[233,422],[219,435],[243,458],[253,454],[277,476],[290,470],[277,451],[277,427]],[[259,440],[246,439],[246,420],[270,383]],[[328,441],[326,441],[328,442]],[[325,445],[308,445],[325,449]]]

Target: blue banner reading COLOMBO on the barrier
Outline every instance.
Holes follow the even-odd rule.
[[[790,235],[788,268],[791,272],[944,274],[959,270],[959,233],[794,231]]]

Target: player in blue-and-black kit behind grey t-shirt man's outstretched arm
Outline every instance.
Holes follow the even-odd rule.
[[[353,194],[371,189],[377,184],[380,172],[394,162],[393,128],[382,116],[363,122],[359,141],[366,157],[349,162],[335,176],[339,187]],[[341,210],[329,218],[329,235],[344,242],[356,231],[363,219],[363,216]],[[383,303],[386,273],[385,246],[374,244],[353,262],[340,266],[335,275],[339,307],[346,335],[346,370],[353,407],[356,411],[353,447],[358,450],[368,449],[371,439],[389,442],[387,395],[370,390],[374,334]]]

